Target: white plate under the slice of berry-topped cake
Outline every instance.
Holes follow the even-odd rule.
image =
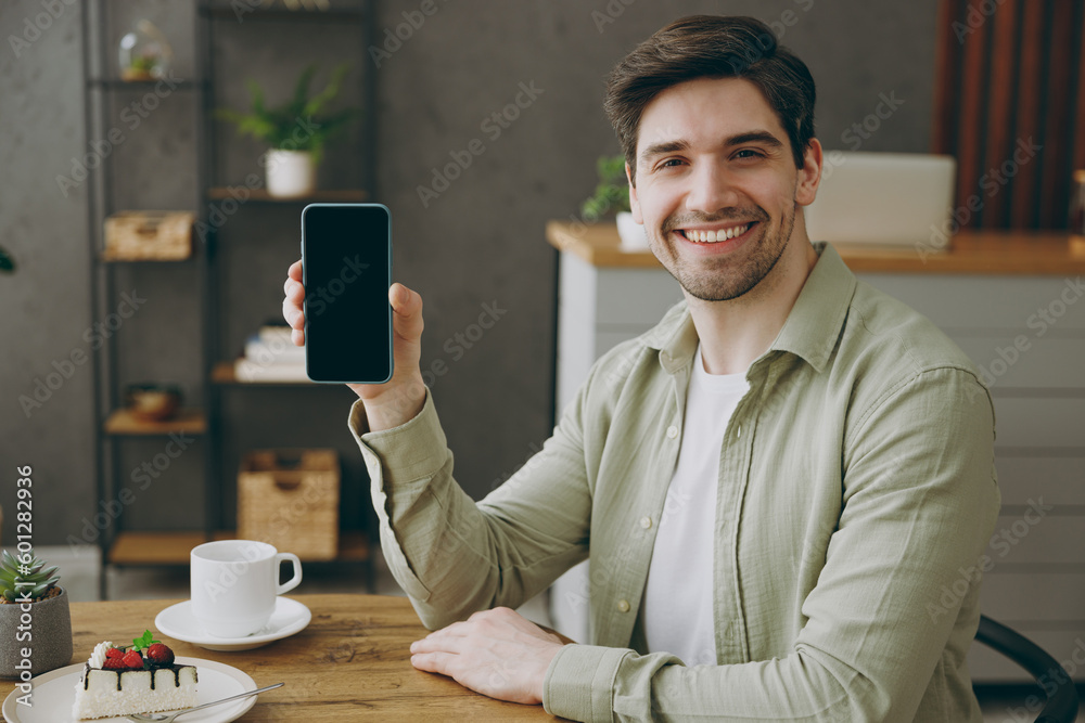
[[[199,688],[196,689],[196,702],[205,703],[213,700],[221,700],[235,696],[245,690],[255,690],[257,685],[253,679],[237,668],[226,666],[214,660],[202,660],[200,658],[178,658],[175,662],[186,666],[196,667],[196,677]],[[18,688],[11,692],[11,695],[3,701],[3,719],[8,723],[67,723],[77,719],[72,718],[72,706],[75,703],[75,686],[82,676],[84,663],[67,666],[58,670],[42,673],[30,680],[34,684],[34,693],[30,700],[33,706],[23,706],[18,698]],[[258,696],[250,696],[241,700],[225,702],[221,706],[213,706],[206,710],[197,710],[181,718],[184,723],[229,723],[235,721],[256,705]],[[98,718],[95,723],[129,723],[127,718]]]

